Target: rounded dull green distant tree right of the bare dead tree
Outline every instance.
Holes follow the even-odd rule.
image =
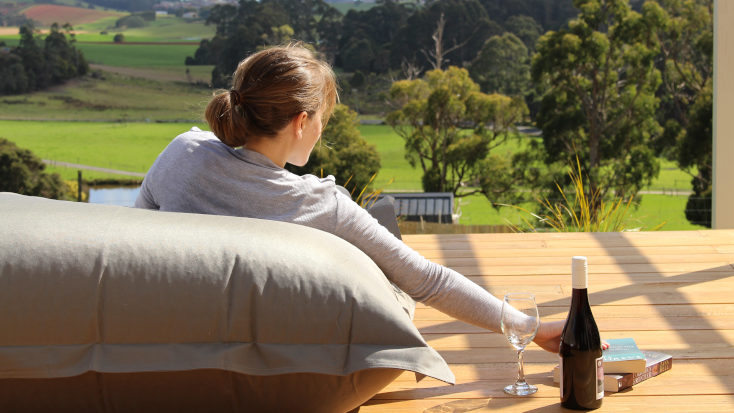
[[[530,88],[530,57],[512,33],[492,36],[469,67],[469,74],[486,93],[524,96]]]

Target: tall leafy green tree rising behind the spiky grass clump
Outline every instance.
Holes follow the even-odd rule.
[[[632,196],[657,176],[650,148],[661,83],[654,66],[657,30],[665,16],[647,2],[642,14],[627,0],[576,0],[581,14],[569,28],[548,32],[532,64],[545,88],[537,124],[549,162],[578,154],[590,192]]]

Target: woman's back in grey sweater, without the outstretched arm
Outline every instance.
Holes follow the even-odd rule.
[[[156,159],[135,206],[291,222],[333,233],[336,196],[333,177],[297,176],[194,127]]]

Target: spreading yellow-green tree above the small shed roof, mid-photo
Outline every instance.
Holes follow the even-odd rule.
[[[429,71],[424,79],[397,81],[390,96],[398,109],[387,122],[405,140],[406,159],[423,169],[425,191],[459,195],[462,187],[477,181],[480,189],[462,195],[493,198],[512,188],[509,162],[490,152],[527,115],[521,98],[484,94],[466,69],[453,66]],[[464,131],[466,125],[473,130]]]

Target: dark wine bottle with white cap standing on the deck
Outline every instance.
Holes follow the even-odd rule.
[[[604,397],[604,365],[599,328],[589,306],[586,257],[573,257],[571,279],[571,310],[561,333],[561,406],[598,409]]]

